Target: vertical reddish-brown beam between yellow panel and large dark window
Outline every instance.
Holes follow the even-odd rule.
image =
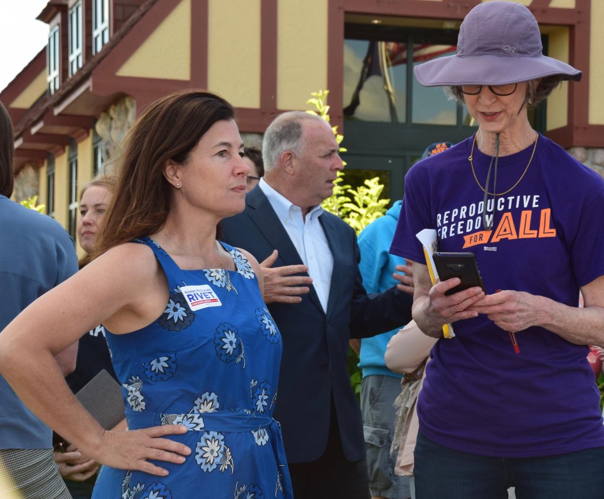
[[[339,0],[327,5],[327,88],[329,115],[342,133],[344,126],[344,9]]]

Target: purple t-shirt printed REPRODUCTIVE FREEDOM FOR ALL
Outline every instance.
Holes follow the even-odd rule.
[[[604,275],[604,180],[539,135],[526,174],[496,197],[493,229],[483,232],[484,192],[468,161],[471,146],[464,140],[411,168],[390,252],[425,263],[416,233],[437,229],[440,251],[475,253],[487,293],[525,291],[577,307],[579,287]],[[532,152],[533,145],[500,157],[498,193],[521,177]],[[481,186],[490,158],[474,149]],[[516,333],[515,354],[509,334],[486,315],[455,322],[454,330],[455,338],[432,349],[419,396],[420,429],[429,439],[498,457],[604,446],[587,347],[530,327]]]

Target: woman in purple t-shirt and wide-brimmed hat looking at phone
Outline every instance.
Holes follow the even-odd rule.
[[[455,56],[415,74],[448,87],[478,123],[410,170],[391,248],[418,262],[419,327],[434,338],[443,324],[455,330],[432,349],[419,396],[417,497],[505,498],[509,487],[518,498],[604,497],[604,426],[586,360],[586,345],[604,344],[604,181],[527,118],[581,73],[542,55],[526,7],[495,1],[466,16]],[[426,228],[440,251],[475,253],[486,294],[446,296],[457,278],[431,284],[416,238]]]

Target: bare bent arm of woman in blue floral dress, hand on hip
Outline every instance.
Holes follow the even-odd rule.
[[[122,324],[144,325],[152,311],[146,308],[149,293],[141,290],[156,289],[157,276],[149,248],[132,243],[109,250],[34,301],[2,331],[0,372],[25,405],[83,455],[114,468],[165,475],[165,469],[147,459],[180,463],[184,457],[179,454],[191,450],[156,437],[187,429],[166,425],[104,431],[71,393],[54,359],[83,331],[115,317],[123,318]]]

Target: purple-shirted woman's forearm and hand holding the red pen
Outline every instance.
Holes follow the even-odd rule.
[[[544,327],[577,345],[604,345],[604,276],[581,287],[584,307],[569,307],[545,296],[504,290],[471,307],[500,328],[516,333]]]

